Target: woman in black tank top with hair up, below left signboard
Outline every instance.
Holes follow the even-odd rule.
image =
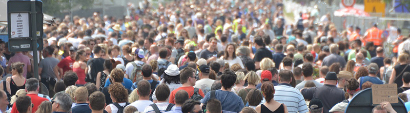
[[[12,96],[16,95],[17,90],[25,89],[25,81],[27,79],[23,77],[23,68],[24,64],[21,62],[11,64],[12,76],[8,77],[6,81],[10,83],[10,94]]]

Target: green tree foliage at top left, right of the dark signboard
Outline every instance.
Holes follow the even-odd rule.
[[[95,0],[42,0],[42,2],[45,14],[56,15],[69,12],[71,9],[91,8]]]

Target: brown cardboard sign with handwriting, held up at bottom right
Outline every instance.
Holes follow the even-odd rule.
[[[384,101],[390,103],[398,103],[397,98],[397,84],[382,84],[382,85],[372,85],[371,93],[373,97],[373,104],[380,104]]]

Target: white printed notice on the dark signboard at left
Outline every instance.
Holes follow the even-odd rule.
[[[28,13],[11,13],[11,38],[29,37]]]

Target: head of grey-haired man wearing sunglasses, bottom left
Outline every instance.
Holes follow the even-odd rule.
[[[56,95],[54,95],[54,101],[52,101],[52,108],[53,112],[68,112],[71,109],[71,105],[73,104],[73,100],[71,100],[71,97],[64,93],[64,92],[59,92]]]

